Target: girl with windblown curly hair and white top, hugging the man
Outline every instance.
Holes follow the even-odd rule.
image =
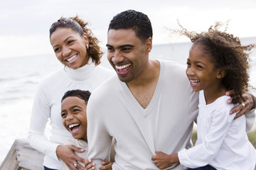
[[[180,33],[193,42],[186,74],[193,91],[199,91],[198,140],[191,149],[176,154],[157,152],[154,162],[160,169],[181,163],[193,169],[255,169],[256,151],[247,138],[245,115],[235,119],[230,109],[242,103],[242,89],[248,88],[248,54],[254,45],[242,46],[239,38],[218,30]],[[234,90],[233,106],[225,91]],[[242,103],[243,108],[245,105]]]

